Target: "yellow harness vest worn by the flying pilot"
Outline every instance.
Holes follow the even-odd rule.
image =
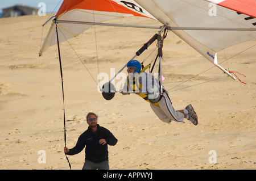
[[[139,74],[141,74],[143,71],[145,71],[147,68],[150,67],[150,64],[145,66],[140,72]],[[127,76],[126,79],[126,85],[127,87],[129,87],[129,90],[133,90],[133,92],[139,91],[142,89],[142,84],[139,83],[139,74],[136,77],[133,77],[133,81],[129,80],[129,75]],[[147,94],[138,94],[139,96],[141,96],[144,100],[146,100],[147,102],[151,103],[150,100],[148,100],[148,96]],[[159,102],[156,103],[151,103],[154,104],[155,106],[159,106]]]

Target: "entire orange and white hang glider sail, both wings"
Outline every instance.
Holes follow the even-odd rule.
[[[125,16],[158,20],[232,78],[218,65],[217,52],[256,38],[254,0],[64,0],[39,54],[57,43],[55,23],[61,43],[94,24]]]

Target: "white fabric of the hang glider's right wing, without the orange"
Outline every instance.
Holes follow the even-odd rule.
[[[135,1],[170,27],[256,28],[256,19],[203,0]],[[213,63],[219,50],[256,38],[256,31],[172,31]]]

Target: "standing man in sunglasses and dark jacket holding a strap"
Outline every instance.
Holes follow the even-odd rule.
[[[117,138],[106,128],[97,124],[96,113],[89,112],[86,121],[88,129],[82,133],[72,149],[64,147],[64,153],[75,155],[80,153],[85,145],[85,162],[82,170],[109,170],[108,145],[117,144]]]

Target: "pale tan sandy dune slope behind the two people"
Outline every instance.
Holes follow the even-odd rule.
[[[47,24],[42,30],[47,18],[0,19],[0,169],[69,169],[63,153],[57,46],[38,57],[49,28]],[[128,18],[125,23],[155,22]],[[97,91],[98,73],[110,77],[110,68],[115,72],[121,69],[156,32],[90,28],[69,40],[80,58],[71,45],[61,43],[68,148],[75,146],[87,129],[85,116],[93,111],[98,113],[98,124],[118,138],[117,145],[109,146],[110,169],[256,169],[256,47],[242,52],[255,45],[255,40],[219,55],[221,62],[225,56],[242,52],[221,65],[245,74],[246,78],[239,75],[247,83],[244,85],[212,68],[208,60],[168,32],[163,48],[163,85],[177,110],[193,105],[199,116],[197,126],[187,120],[163,123],[137,95],[115,94],[112,100],[105,100]],[[155,52],[150,56],[154,49],[153,44],[137,59],[143,61],[149,56],[148,64],[154,59]],[[121,85],[123,81],[115,83]],[[40,163],[42,153],[46,153],[46,163]],[[84,155],[83,150],[69,156],[72,169],[82,168]],[[216,163],[211,162],[214,155]]]

